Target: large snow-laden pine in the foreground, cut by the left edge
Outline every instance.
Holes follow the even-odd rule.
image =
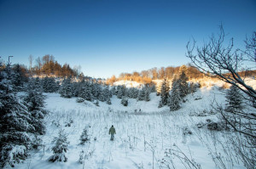
[[[0,66],[0,69],[3,69]],[[0,166],[15,166],[28,155],[31,138],[35,132],[32,115],[13,92],[9,66],[0,70]]]

